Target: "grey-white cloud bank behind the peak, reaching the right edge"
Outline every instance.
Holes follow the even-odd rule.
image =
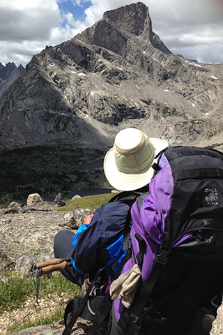
[[[132,0],[91,0],[85,10],[86,25],[102,18],[106,10],[137,3]],[[211,63],[223,61],[222,0],[144,0],[157,33],[169,49],[184,57]],[[216,53],[217,52],[217,53]]]

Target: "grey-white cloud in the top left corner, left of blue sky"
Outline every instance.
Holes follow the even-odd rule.
[[[0,1],[0,61],[26,65],[50,44],[61,13],[56,0]]]

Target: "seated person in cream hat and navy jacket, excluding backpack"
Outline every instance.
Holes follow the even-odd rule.
[[[121,237],[130,206],[137,196],[148,191],[153,177],[151,165],[155,156],[167,147],[167,141],[149,138],[136,128],[126,128],[116,135],[114,147],[105,156],[104,171],[109,183],[124,192],[103,204],[94,216],[88,216],[76,234],[63,230],[54,238],[55,258],[71,257],[72,267],[62,271],[70,281],[82,287],[85,274],[93,278],[103,263],[105,266],[106,255],[101,257],[101,251],[120,239],[115,253],[110,251],[114,253],[110,255],[110,263],[116,259],[117,251],[122,248]],[[110,161],[116,161],[116,171],[109,170]]]

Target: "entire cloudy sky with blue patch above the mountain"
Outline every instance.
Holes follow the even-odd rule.
[[[134,0],[0,0],[0,62],[25,66],[46,45],[72,38],[106,10]],[[174,52],[204,63],[223,61],[223,0],[142,0],[153,31]]]

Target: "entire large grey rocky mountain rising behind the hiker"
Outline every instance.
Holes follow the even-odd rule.
[[[222,145],[222,77],[223,64],[172,54],[144,3],[110,10],[34,56],[5,92],[0,148],[56,141],[105,147],[126,126],[171,144]]]

